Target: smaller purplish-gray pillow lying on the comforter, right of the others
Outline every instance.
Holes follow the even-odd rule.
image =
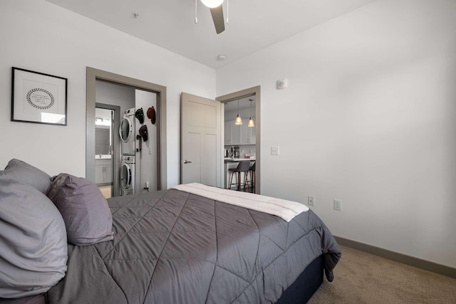
[[[92,182],[66,173],[58,174],[48,197],[62,214],[68,242],[84,246],[114,238],[108,202]]]

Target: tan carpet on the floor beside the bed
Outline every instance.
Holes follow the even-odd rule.
[[[309,300],[317,303],[456,303],[456,279],[341,246],[334,281],[326,278]]]

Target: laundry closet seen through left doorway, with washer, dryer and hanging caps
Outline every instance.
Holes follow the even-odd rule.
[[[157,95],[97,80],[95,102],[95,183],[102,193],[108,197],[157,190]],[[98,117],[98,113],[106,110],[100,108],[115,109],[112,111],[118,113],[113,113],[113,120],[108,123],[106,117]],[[117,124],[115,117],[120,117]],[[99,132],[100,120],[110,126],[108,137],[108,132]],[[109,148],[98,154],[100,149],[96,147],[102,146]],[[105,168],[110,163],[110,170],[100,169],[100,162]],[[112,174],[112,178],[100,179],[100,174]]]

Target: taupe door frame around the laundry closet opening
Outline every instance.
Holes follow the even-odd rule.
[[[157,190],[167,189],[166,87],[90,67],[86,68],[86,179],[95,182],[96,80],[127,85],[157,94]]]

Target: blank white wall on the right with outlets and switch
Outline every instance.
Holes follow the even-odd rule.
[[[218,69],[217,95],[261,85],[262,194],[314,195],[333,234],[456,267],[455,16],[374,1]]]

